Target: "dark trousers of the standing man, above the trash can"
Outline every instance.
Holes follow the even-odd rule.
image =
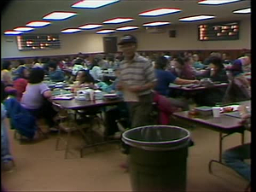
[[[153,93],[139,96],[139,102],[129,102],[131,128],[152,125]]]

